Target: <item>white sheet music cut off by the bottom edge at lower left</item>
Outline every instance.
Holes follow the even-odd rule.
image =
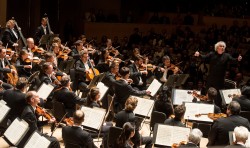
[[[50,141],[45,137],[41,136],[39,133],[34,132],[24,148],[46,148],[49,147]]]

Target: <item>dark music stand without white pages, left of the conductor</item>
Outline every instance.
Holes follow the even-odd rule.
[[[164,86],[172,87],[172,88],[180,87],[185,84],[188,77],[189,77],[189,74],[170,75],[168,77],[167,82],[164,84]]]

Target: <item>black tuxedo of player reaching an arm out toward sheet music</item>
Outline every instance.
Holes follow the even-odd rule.
[[[114,88],[115,88],[114,105],[116,112],[119,112],[124,108],[124,104],[130,95],[133,96],[146,95],[145,90],[143,91],[136,90],[131,85],[127,84],[123,79],[116,81]]]

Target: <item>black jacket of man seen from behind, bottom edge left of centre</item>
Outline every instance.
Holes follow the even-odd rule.
[[[63,127],[62,138],[66,148],[70,148],[67,144],[79,145],[82,148],[96,148],[91,135],[78,126]]]

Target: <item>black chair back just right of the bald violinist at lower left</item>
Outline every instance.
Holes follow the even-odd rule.
[[[53,115],[56,119],[61,120],[66,114],[64,104],[62,102],[54,101],[53,102]]]

